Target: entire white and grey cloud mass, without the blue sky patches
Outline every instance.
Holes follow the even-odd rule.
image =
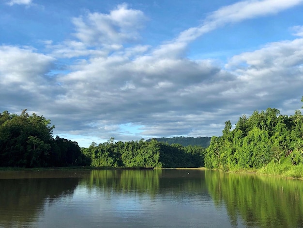
[[[142,11],[121,4],[109,14],[87,13],[73,18],[75,40],[45,41],[49,54],[0,46],[0,95],[12,96],[14,107],[44,114],[61,134],[117,140],[219,135],[228,119],[236,123],[242,114],[269,104],[289,112],[300,102],[303,39],[264,44],[232,56],[226,65],[186,58],[189,42],[227,23],[301,2],[238,2],[156,47],[135,43],[146,20]],[[300,35],[302,27],[294,31]],[[67,61],[68,72],[50,76],[66,59],[73,59]],[[125,130],[130,126],[139,126],[134,135]]]

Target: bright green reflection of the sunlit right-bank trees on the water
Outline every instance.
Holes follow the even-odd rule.
[[[205,171],[215,203],[224,202],[232,225],[303,227],[303,181]]]

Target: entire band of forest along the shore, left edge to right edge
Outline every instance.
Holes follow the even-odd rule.
[[[303,98],[302,98],[303,101]],[[0,166],[54,167],[201,167],[221,170],[253,169],[266,174],[303,177],[303,115],[282,115],[268,108],[239,118],[232,128],[225,122],[223,134],[213,136],[210,146],[184,146],[175,137],[144,141],[92,143],[80,148],[76,142],[53,137],[50,120],[24,110],[20,115],[0,114]],[[199,139],[199,138],[198,138]],[[165,142],[162,142],[165,141]],[[206,143],[207,137],[201,137]]]

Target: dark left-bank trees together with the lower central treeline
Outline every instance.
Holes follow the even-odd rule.
[[[108,142],[80,148],[68,139],[53,138],[50,120],[24,110],[0,114],[1,167],[201,167],[205,149],[181,144],[131,141]]]

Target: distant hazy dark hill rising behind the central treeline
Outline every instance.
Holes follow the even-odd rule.
[[[173,137],[173,138],[166,138],[166,137],[162,137],[162,138],[154,138],[155,140],[157,140],[158,142],[164,142],[164,143],[168,143],[169,145],[174,144],[174,143],[178,143],[181,144],[183,147],[192,145],[192,146],[201,146],[201,147],[208,147],[211,143],[211,137]],[[150,142],[152,139],[148,139],[146,140],[147,142]]]

